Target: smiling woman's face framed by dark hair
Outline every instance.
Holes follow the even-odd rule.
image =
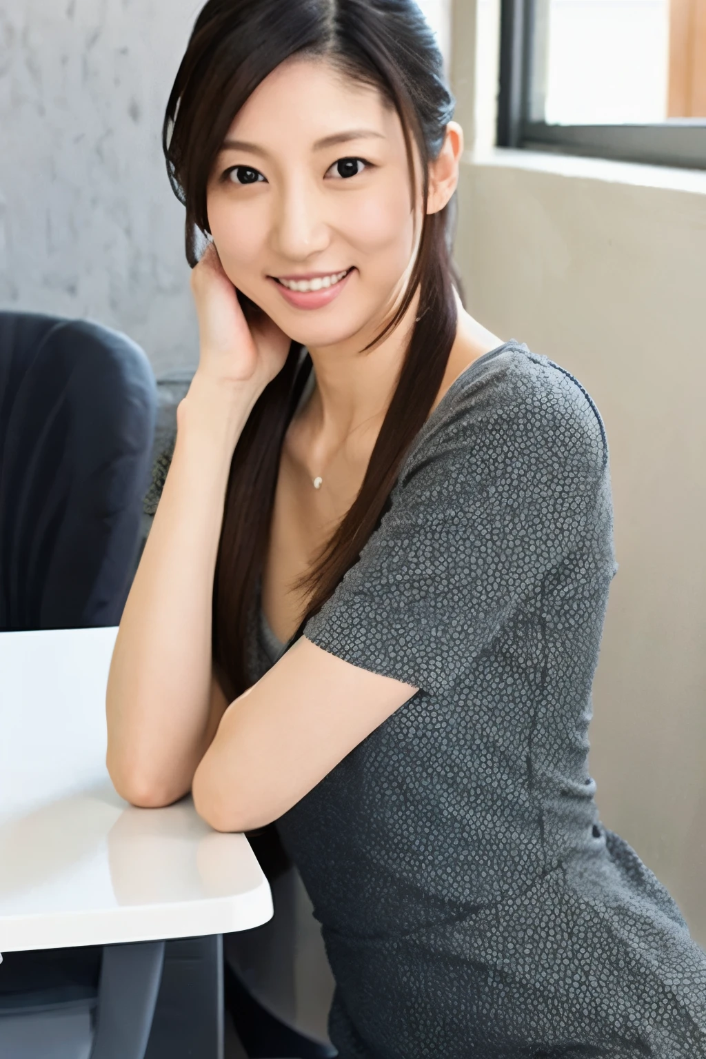
[[[253,92],[207,212],[231,282],[309,348],[369,341],[404,289],[421,227],[397,113],[322,59],[290,59]]]

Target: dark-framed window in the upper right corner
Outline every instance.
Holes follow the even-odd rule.
[[[706,0],[501,0],[497,143],[706,168]]]

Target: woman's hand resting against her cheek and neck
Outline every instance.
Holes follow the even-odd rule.
[[[259,395],[282,371],[290,338],[261,310],[246,320],[213,243],[192,272],[192,292],[199,319],[199,376],[252,384]]]

